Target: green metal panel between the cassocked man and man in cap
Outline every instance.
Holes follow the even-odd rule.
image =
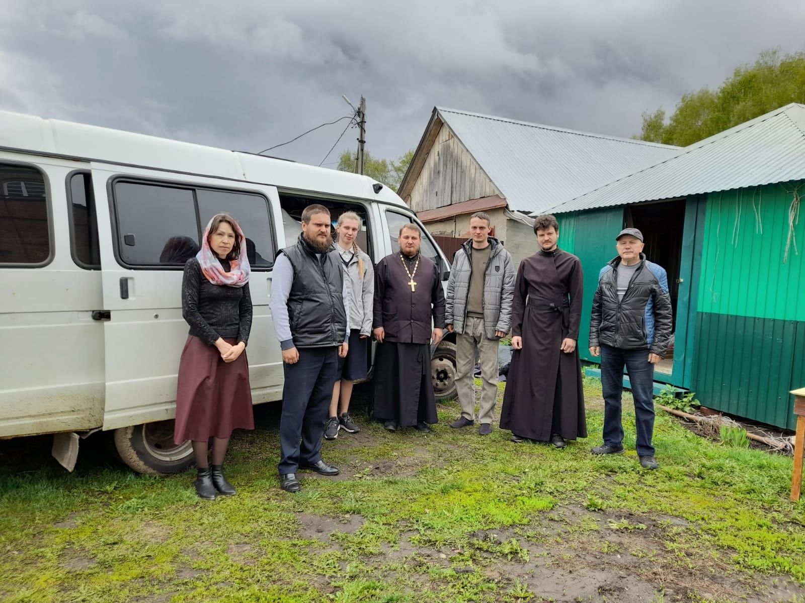
[[[556,216],[559,221],[559,247],[579,257],[584,270],[584,309],[579,329],[579,353],[582,359],[593,358],[588,349],[592,296],[598,287],[598,273],[617,256],[615,236],[623,228],[623,207],[606,207],[596,211]]]

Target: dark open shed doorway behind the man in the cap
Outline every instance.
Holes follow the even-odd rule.
[[[682,268],[682,244],[685,227],[685,199],[626,206],[626,226],[643,233],[646,259],[662,266],[668,274],[668,293],[674,312],[676,332],[677,301],[679,299],[679,272]],[[674,371],[675,337],[671,347],[655,370],[671,375]],[[681,353],[681,350],[680,350]]]

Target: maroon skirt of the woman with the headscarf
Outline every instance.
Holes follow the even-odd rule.
[[[254,429],[246,351],[225,363],[217,347],[190,335],[179,362],[173,441],[226,438],[233,429]]]

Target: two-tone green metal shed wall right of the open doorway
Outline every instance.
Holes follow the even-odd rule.
[[[792,189],[708,195],[691,384],[706,406],[789,429],[788,391],[805,385],[805,219],[783,263]]]

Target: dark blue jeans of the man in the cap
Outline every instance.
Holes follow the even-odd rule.
[[[601,388],[604,391],[604,443],[623,445],[621,397],[623,367],[629,374],[634,397],[634,424],[638,431],[638,455],[653,457],[654,446],[654,364],[648,350],[621,350],[601,346]]]

